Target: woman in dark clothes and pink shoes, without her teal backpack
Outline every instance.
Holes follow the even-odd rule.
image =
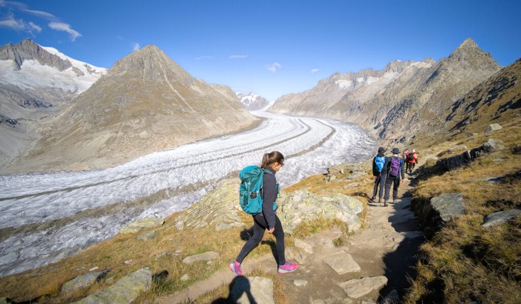
[[[263,190],[261,192],[263,195],[262,212],[253,215],[253,236],[244,244],[237,259],[228,265],[230,270],[236,275],[242,275],[242,261],[262,241],[266,229],[268,229],[269,233],[275,235],[279,273],[293,272],[298,267],[296,263],[286,261],[284,254],[284,230],[282,230],[282,224],[277,217],[277,204],[275,204],[275,201],[279,194],[279,184],[275,178],[275,173],[282,166],[284,166],[284,156],[280,152],[273,151],[264,154],[261,165],[261,168],[266,169],[263,175]]]

